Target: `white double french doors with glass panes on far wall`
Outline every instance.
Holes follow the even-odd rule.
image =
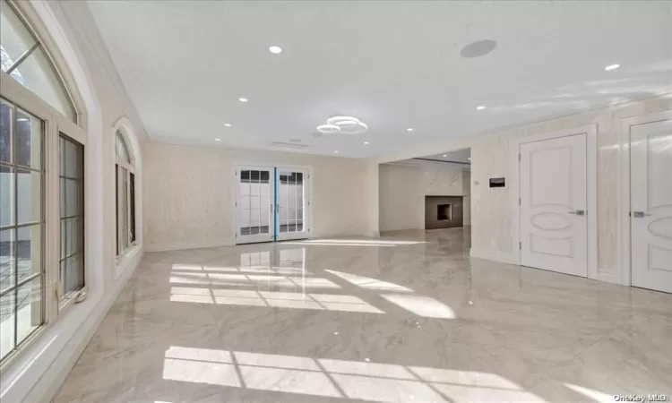
[[[309,176],[303,168],[237,167],[236,244],[307,238]]]

